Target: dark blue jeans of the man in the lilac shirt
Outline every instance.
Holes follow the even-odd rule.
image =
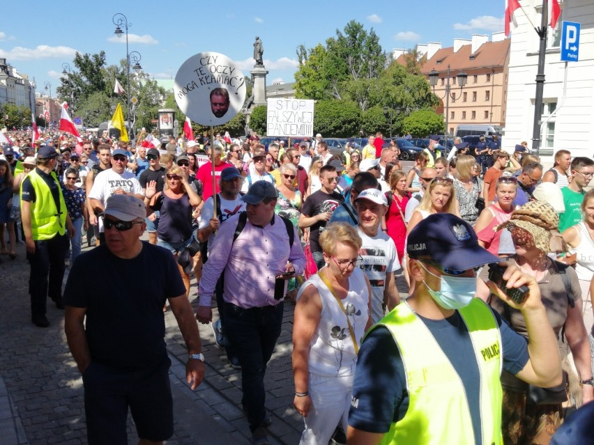
[[[243,410],[254,432],[264,422],[264,374],[280,336],[284,304],[243,309],[224,304],[225,334],[237,353],[241,364]]]

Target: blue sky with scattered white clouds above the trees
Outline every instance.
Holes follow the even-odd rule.
[[[108,64],[125,58],[125,37],[114,35],[115,13],[128,17],[130,52],[142,55],[142,68],[155,79],[174,78],[187,58],[204,51],[225,54],[248,74],[258,35],[267,84],[272,84],[294,81],[298,45],[323,43],[351,19],[367,30],[373,27],[386,51],[427,42],[448,47],[454,38],[503,31],[504,1],[59,0],[38,6],[29,16],[17,10],[0,24],[0,57],[34,77],[38,90],[50,81],[55,95],[62,63],[74,68],[75,52],[104,50]]]

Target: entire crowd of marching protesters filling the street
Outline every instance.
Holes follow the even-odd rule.
[[[74,293],[82,281],[73,272],[84,274],[80,267],[89,264],[81,256],[83,240],[98,246],[91,250],[97,258],[132,260],[142,252],[142,261],[121,263],[134,274],[153,274],[142,263],[151,258],[162,264],[153,280],[165,288],[151,291],[154,301],[143,313],[153,322],[142,329],[159,333],[162,320],[155,317],[162,315],[154,309],[161,313],[169,304],[188,345],[193,387],[204,377],[194,362],[204,357],[197,329],[189,327],[189,306],[181,301],[198,298],[195,318],[212,323],[229,363],[241,369],[241,402],[254,444],[268,444],[264,373],[280,336],[285,299],[296,304],[294,407],[305,419],[302,444],[326,445],[331,438],[340,443],[345,434],[353,444],[387,437],[548,444],[565,407],[594,399],[594,195],[586,192],[592,159],[558,150],[554,167],[545,171],[522,145],[511,155],[481,146],[472,156],[457,143],[455,155],[446,158],[431,141],[404,171],[397,146],[384,143],[380,133],[363,147],[349,140],[337,155],[320,134],[294,146],[280,139],[264,146],[257,135],[245,141],[228,134],[212,141],[172,136],[162,144],[144,133],[135,144],[91,135],[76,140],[45,134],[34,142],[26,132],[10,136],[12,146],[0,156],[1,255],[14,259],[16,244],[26,244],[31,321],[50,324],[48,296],[57,309],[66,305],[68,343],[84,380],[91,368],[93,378],[86,379],[93,385],[114,370],[122,382],[129,380],[130,360],[122,354],[107,359],[101,344],[113,339],[101,338],[100,325],[119,303],[110,299],[98,306],[91,294]],[[162,249],[138,244],[144,231],[146,244]],[[509,266],[508,286],[528,286],[526,302],[512,302],[486,283],[487,263],[497,260]],[[63,295],[66,267],[73,269]],[[165,271],[176,278],[161,279]],[[192,274],[197,295],[190,295]],[[402,302],[399,276],[409,285]],[[121,295],[135,292],[135,281],[125,276],[117,286]],[[91,308],[104,312],[98,316]],[[85,316],[93,320],[86,334]],[[487,341],[473,323],[489,316],[492,325],[484,327],[499,332],[489,337],[495,343],[473,349],[475,341]],[[458,334],[441,332],[445,328],[436,320],[446,320]],[[425,325],[429,330],[420,328]],[[405,339],[404,326],[418,338]],[[142,330],[130,347],[147,336],[161,345],[154,335]],[[535,341],[538,336],[542,341]],[[430,352],[422,352],[425,347]],[[430,354],[447,358],[426,365],[425,387],[415,373]],[[480,354],[495,361],[482,364]],[[469,361],[477,365],[462,370]],[[161,377],[168,368],[162,354],[142,363]],[[440,364],[444,375],[438,377],[431,367]],[[448,373],[456,384],[448,389],[452,393],[440,394]],[[145,377],[153,382],[153,374]],[[162,382],[155,385],[155,400],[167,398]],[[85,382],[85,391],[100,399],[91,386]],[[536,390],[545,395],[539,399]],[[460,391],[471,391],[468,405],[458,400]],[[431,397],[440,400],[434,407]],[[439,415],[436,409],[448,397],[462,406],[456,428],[448,432],[446,421],[427,426],[413,419]],[[493,405],[485,406],[483,398]],[[146,403],[132,399],[131,407]],[[112,407],[87,408],[89,443],[98,440],[92,435],[116,440],[101,432]],[[143,439],[159,442],[171,435],[169,414],[157,420],[132,409],[132,416]]]

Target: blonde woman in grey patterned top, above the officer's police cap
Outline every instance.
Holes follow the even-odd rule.
[[[472,174],[475,164],[473,156],[460,155],[456,162],[456,178],[454,178],[454,189],[458,200],[460,217],[467,223],[474,226],[478,218],[476,201],[481,194],[482,185],[480,179]]]

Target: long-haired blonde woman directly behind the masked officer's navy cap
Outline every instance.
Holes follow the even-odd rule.
[[[436,178],[429,182],[421,202],[411,216],[409,226],[407,227],[408,233],[411,233],[411,230],[420,221],[433,213],[451,213],[459,216],[454,181],[452,179],[436,176]]]

